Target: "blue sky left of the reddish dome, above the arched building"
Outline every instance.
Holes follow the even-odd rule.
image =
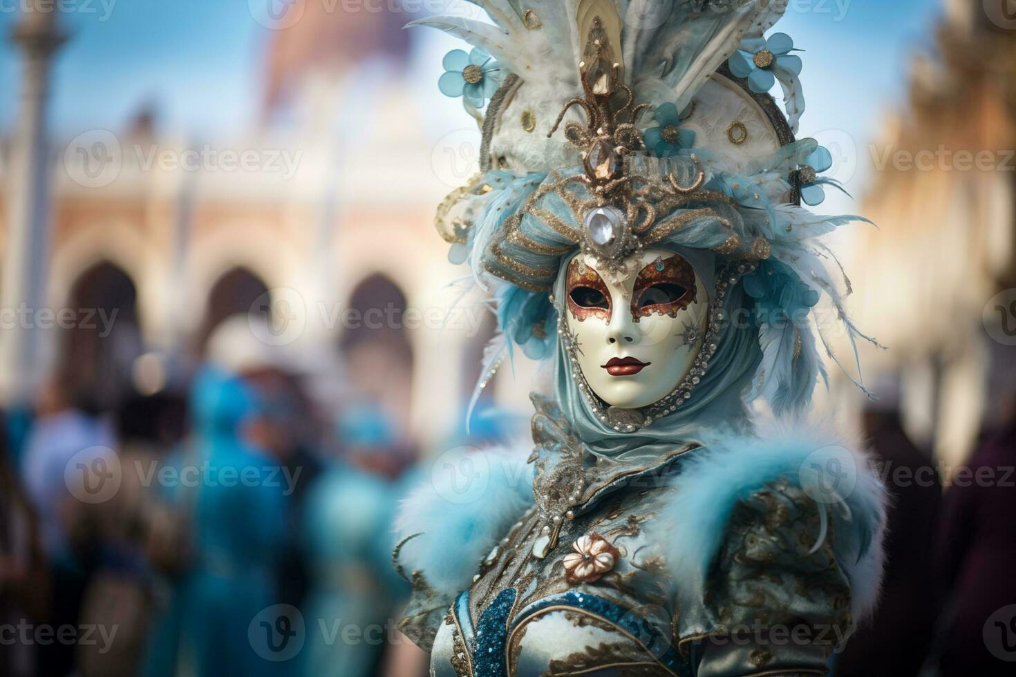
[[[0,8],[21,1],[0,0]],[[171,127],[215,133],[246,123],[257,110],[268,31],[251,18],[247,0],[115,0],[105,20],[101,0],[77,2],[81,11],[64,17],[71,41],[54,73],[58,131],[115,129],[152,103]],[[0,10],[4,33],[13,18]],[[17,79],[14,55],[9,44],[0,49],[2,82]],[[3,128],[16,92],[0,91]]]

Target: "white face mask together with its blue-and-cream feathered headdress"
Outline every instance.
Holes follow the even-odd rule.
[[[701,408],[749,376],[745,401],[800,410],[824,377],[816,348],[824,338],[811,315],[823,293],[851,342],[878,345],[848,320],[849,282],[842,288],[813,244],[856,217],[801,207],[823,152],[814,139],[795,138],[804,110],[795,69],[774,75],[784,78],[789,120],[739,74],[751,55],[758,72],[762,57],[773,56],[763,49],[772,8],[753,15],[750,29],[727,30],[721,14],[699,3],[676,5],[673,44],[635,31],[626,51],[622,33],[635,32],[611,0],[549,3],[543,19],[530,8],[521,23],[508,4],[498,28],[484,32],[481,24],[423,21],[467,36],[506,73],[483,116],[482,172],[449,194],[435,219],[449,259],[468,263],[492,292],[502,330],[485,349],[472,403],[514,344],[533,359],[567,360],[556,374],[560,404],[574,395],[583,408],[569,406],[569,415],[593,416],[597,434],[636,432],[682,406]],[[747,17],[749,4],[738,12]],[[568,27],[549,30],[555,21]],[[721,28],[739,52],[733,61],[724,65],[722,50],[689,51]],[[511,38],[525,48],[512,51]],[[672,58],[672,48],[685,56]],[[552,67],[549,55],[577,74]],[[477,107],[469,99],[467,108]],[[724,322],[753,309],[757,325]],[[703,383],[710,392],[692,401]]]

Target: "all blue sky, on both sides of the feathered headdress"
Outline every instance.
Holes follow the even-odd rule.
[[[0,0],[5,35],[11,8],[24,1]],[[254,124],[271,36],[249,10],[259,0],[63,1],[78,11],[65,17],[72,40],[55,70],[52,122],[59,134],[119,129],[149,103],[164,128],[205,138]],[[929,48],[940,11],[939,0],[789,0],[778,29],[806,50],[801,135],[823,141],[823,133],[835,139],[842,132],[863,148],[883,113],[903,100],[909,57]],[[421,100],[440,112],[429,116],[435,124],[461,128],[461,110],[437,100],[436,87],[441,54],[455,43],[434,31],[419,35],[412,81]],[[6,42],[0,47],[0,130],[9,128],[17,101],[15,56]],[[458,117],[442,122],[445,112]],[[861,166],[848,187],[861,188],[864,177]]]

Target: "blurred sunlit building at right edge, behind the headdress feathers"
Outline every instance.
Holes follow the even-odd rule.
[[[881,229],[858,230],[848,268],[854,319],[889,346],[866,349],[867,371],[899,379],[911,431],[949,466],[1016,383],[990,307],[1016,286],[1016,25],[989,4],[946,1],[905,104],[862,151],[876,171],[861,213]]]

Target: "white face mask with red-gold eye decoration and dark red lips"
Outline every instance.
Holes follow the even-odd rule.
[[[568,331],[582,376],[607,404],[646,407],[688,374],[702,347],[709,296],[680,255],[647,249],[625,260],[628,273],[600,274],[585,254],[568,264]]]

